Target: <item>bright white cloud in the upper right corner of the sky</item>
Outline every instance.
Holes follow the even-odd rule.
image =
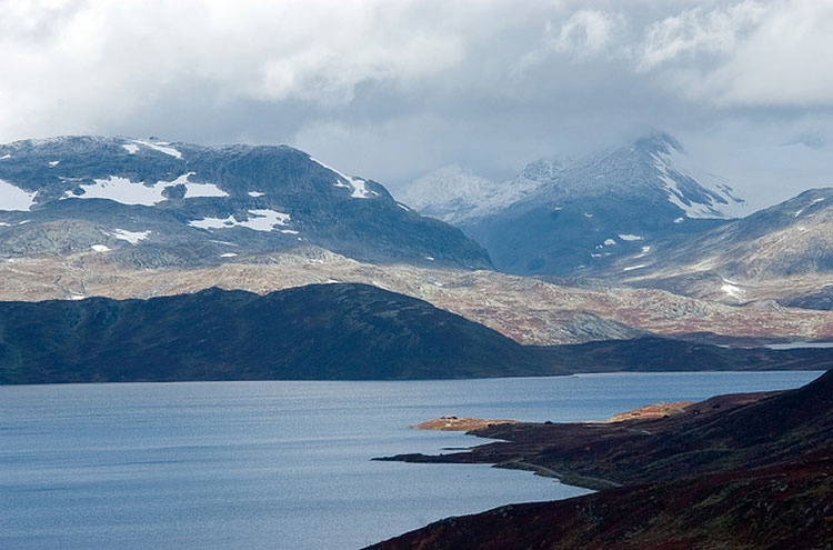
[[[648,28],[639,70],[716,107],[833,107],[833,3],[745,1]]]

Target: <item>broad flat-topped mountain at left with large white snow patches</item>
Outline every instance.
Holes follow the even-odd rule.
[[[0,257],[93,250],[138,267],[193,266],[308,244],[367,261],[491,266],[460,230],[285,146],[0,146]]]

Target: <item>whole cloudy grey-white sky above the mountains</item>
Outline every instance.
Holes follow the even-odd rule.
[[[652,129],[754,207],[833,186],[833,0],[0,0],[0,141],[288,143],[393,190]]]

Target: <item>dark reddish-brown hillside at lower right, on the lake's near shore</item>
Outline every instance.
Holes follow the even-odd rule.
[[[713,398],[669,419],[476,433],[510,441],[488,446],[498,454],[488,461],[512,456],[626,484],[450,518],[371,548],[822,549],[833,541],[833,372],[793,391]],[[482,449],[474,450],[481,460]]]

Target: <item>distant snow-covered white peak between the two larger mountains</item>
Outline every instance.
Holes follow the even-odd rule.
[[[452,164],[414,180],[399,198],[423,216],[460,224],[518,202],[539,184],[529,178],[499,183]]]

